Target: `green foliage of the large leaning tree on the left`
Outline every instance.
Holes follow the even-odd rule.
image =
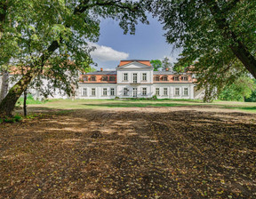
[[[0,66],[12,60],[26,86],[30,84],[45,97],[52,94],[52,88],[74,94],[78,71],[93,65],[93,49],[87,43],[98,41],[100,20],[118,20],[124,34],[134,34],[139,21],[148,24],[145,8],[132,0],[10,0],[1,12],[5,14],[4,20],[0,18]],[[46,88],[43,78],[49,81]],[[25,86],[16,86],[9,93],[19,97]],[[4,101],[13,101],[10,95]],[[0,106],[3,103],[7,102]]]

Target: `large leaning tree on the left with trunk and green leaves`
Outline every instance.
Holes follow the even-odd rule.
[[[22,16],[22,20],[15,21],[18,23],[15,36],[19,50],[27,55],[22,65],[28,63],[25,65],[28,67],[26,74],[2,100],[0,115],[12,115],[21,93],[36,77],[45,76],[53,82],[64,83],[68,88],[72,75],[92,64],[91,49],[86,41],[96,42],[99,39],[100,18],[120,20],[119,25],[125,34],[129,30],[134,34],[138,20],[148,23],[144,7],[132,0],[28,2],[33,9],[29,9],[29,14]],[[13,7],[15,4],[7,9],[12,11]],[[71,92],[71,86],[68,90]]]

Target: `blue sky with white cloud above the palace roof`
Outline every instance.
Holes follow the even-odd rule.
[[[179,49],[167,44],[163,25],[148,16],[149,25],[139,23],[135,35],[124,35],[124,30],[116,20],[101,20],[100,39],[90,45],[96,50],[91,53],[92,59],[98,64],[97,70],[115,70],[120,60],[163,60],[168,57],[173,63],[179,54]]]

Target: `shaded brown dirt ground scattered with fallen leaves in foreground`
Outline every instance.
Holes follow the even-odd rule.
[[[0,124],[0,197],[256,198],[255,119],[122,107]]]

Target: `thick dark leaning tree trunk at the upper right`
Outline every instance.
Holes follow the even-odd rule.
[[[230,8],[236,6],[239,1],[236,0],[233,4],[230,4]],[[204,0],[204,3],[207,4],[210,8],[212,16],[218,26],[218,28],[223,31],[223,36],[225,39],[232,40],[233,44],[230,44],[229,47],[231,51],[236,55],[236,58],[240,60],[244,67],[256,78],[256,59],[252,56],[251,52],[246,48],[246,46],[239,41],[236,34],[231,31],[227,19],[224,17],[224,13],[220,10],[218,4],[214,0]]]

